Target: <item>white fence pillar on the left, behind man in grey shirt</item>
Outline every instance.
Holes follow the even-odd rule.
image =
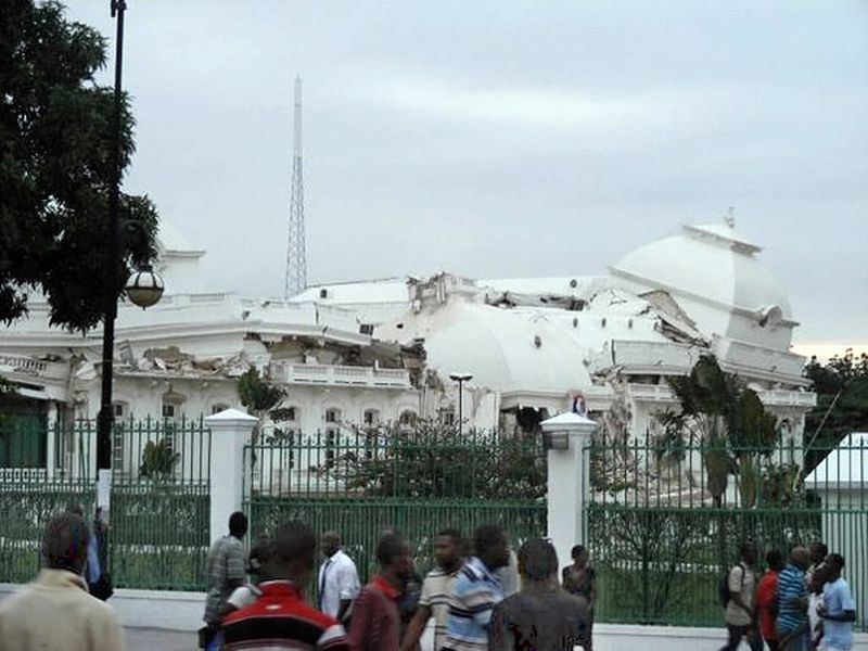
[[[244,502],[244,446],[258,418],[226,409],[205,419],[210,429],[210,540],[229,532],[229,516]]]

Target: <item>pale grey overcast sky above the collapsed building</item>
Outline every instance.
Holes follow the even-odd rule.
[[[601,273],[735,206],[795,341],[868,344],[864,0],[127,1],[125,189],[215,290],[282,294],[301,74],[310,283]]]

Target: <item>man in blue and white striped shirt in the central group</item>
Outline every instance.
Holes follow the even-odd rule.
[[[497,525],[478,527],[473,548],[475,556],[455,578],[444,651],[487,651],[492,611],[503,599],[503,588],[494,574],[509,564],[503,529]]]

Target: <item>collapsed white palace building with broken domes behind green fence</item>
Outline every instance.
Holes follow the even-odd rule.
[[[644,437],[675,406],[666,379],[713,353],[801,441],[815,404],[790,353],[793,320],[761,248],[731,222],[685,226],[599,276],[468,279],[441,273],[311,288],[291,301],[214,292],[204,251],[169,226],[156,270],[167,293],[148,310],[119,308],[118,418],[199,418],[242,408],[238,379],[259,369],[286,391],[299,432],[353,424],[455,423],[461,383],[465,427],[535,432],[578,399],[625,437]],[[0,375],[17,394],[0,412],[41,423],[95,418],[101,332],[50,328],[29,317],[0,335]]]

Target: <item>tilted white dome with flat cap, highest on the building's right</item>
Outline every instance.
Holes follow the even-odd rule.
[[[756,257],[760,251],[730,224],[685,226],[677,235],[627,254],[610,271],[649,289],[790,321],[790,302]]]

